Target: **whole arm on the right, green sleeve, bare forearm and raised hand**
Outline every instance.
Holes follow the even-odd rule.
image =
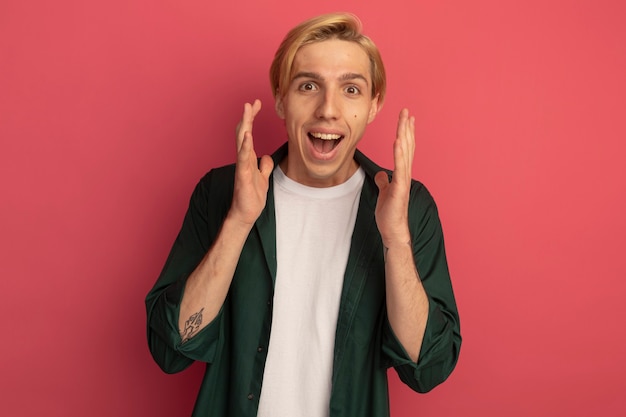
[[[454,369],[461,334],[437,208],[428,191],[410,178],[414,123],[407,110],[400,113],[393,178],[389,182],[382,172],[375,178],[376,222],[385,251],[383,351],[404,383],[427,392]]]

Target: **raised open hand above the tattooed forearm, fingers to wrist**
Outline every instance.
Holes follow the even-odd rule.
[[[257,164],[252,140],[252,124],[261,110],[261,101],[244,105],[243,117],[237,125],[237,166],[235,168],[235,190],[229,216],[242,224],[252,226],[263,211],[267,201],[269,176],[274,161],[263,155]]]

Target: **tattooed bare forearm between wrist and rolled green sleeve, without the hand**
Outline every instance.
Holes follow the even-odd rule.
[[[187,279],[178,319],[183,342],[206,327],[222,308],[251,227],[227,216],[215,242]]]

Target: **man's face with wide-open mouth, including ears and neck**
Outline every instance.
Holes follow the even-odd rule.
[[[298,50],[293,79],[276,99],[289,138],[289,154],[281,162],[289,178],[330,187],[354,174],[356,146],[378,113],[370,68],[354,42],[333,39]]]

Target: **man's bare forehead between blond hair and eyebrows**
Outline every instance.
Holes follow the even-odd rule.
[[[331,39],[302,46],[294,57],[292,75],[313,72],[323,77],[348,73],[362,75],[371,81],[370,60],[356,42]]]

